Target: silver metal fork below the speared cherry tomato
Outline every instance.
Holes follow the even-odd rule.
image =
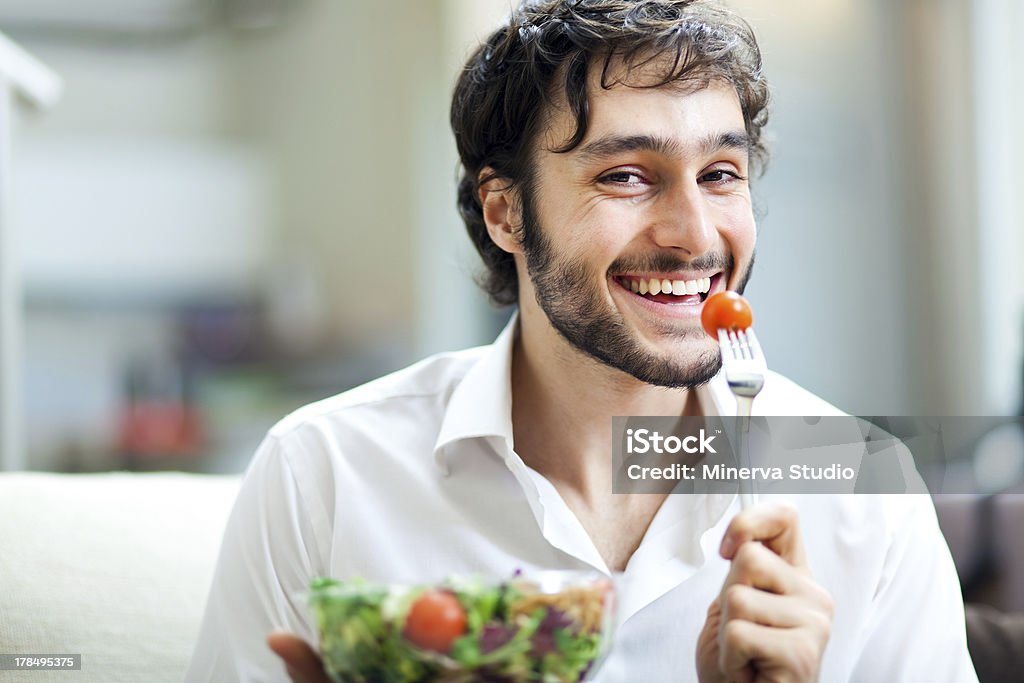
[[[754,328],[731,332],[718,331],[718,344],[722,349],[722,365],[729,389],[736,396],[736,454],[740,467],[751,466],[748,435],[751,429],[751,409],[754,397],[765,384],[768,364],[754,334]],[[754,483],[749,479],[739,480],[739,505],[745,510],[754,504]]]

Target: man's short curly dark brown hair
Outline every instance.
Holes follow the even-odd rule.
[[[613,60],[627,72],[663,71],[654,82],[635,86],[609,76]],[[751,27],[731,10],[714,0],[524,0],[470,56],[452,99],[462,163],[459,212],[486,266],[479,283],[497,305],[518,300],[515,262],[487,234],[480,185],[497,177],[509,187],[528,186],[531,143],[556,99],[567,102],[575,131],[555,152],[580,144],[588,125],[587,75],[595,61],[601,65],[602,88],[731,84],[752,164],[763,169],[767,162],[761,133],[768,120],[768,84],[761,51]],[[493,174],[481,178],[484,168]]]

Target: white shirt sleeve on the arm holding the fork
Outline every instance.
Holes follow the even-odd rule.
[[[880,496],[892,542],[851,681],[977,683],[959,581],[925,495]]]

